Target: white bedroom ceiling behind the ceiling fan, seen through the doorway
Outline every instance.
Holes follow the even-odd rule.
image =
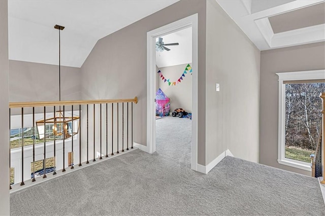
[[[167,67],[192,62],[192,27],[161,36],[165,44],[179,43],[178,46],[167,46],[170,51],[156,51],[156,65]],[[156,39],[158,41],[158,38]]]

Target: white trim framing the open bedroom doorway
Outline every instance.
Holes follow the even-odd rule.
[[[197,170],[198,145],[198,14],[193,14],[173,23],[147,32],[147,148],[149,153],[156,151],[155,143],[155,39],[165,34],[192,27],[192,143],[191,169]]]

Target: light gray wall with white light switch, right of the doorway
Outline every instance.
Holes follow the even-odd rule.
[[[258,162],[260,51],[215,1],[206,45],[206,164],[227,149]]]

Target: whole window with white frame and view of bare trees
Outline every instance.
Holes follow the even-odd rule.
[[[279,144],[280,164],[311,170],[321,127],[325,70],[277,73],[279,76]]]

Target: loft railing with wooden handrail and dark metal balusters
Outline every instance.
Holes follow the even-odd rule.
[[[11,102],[10,189],[133,149],[137,102],[137,97]]]

